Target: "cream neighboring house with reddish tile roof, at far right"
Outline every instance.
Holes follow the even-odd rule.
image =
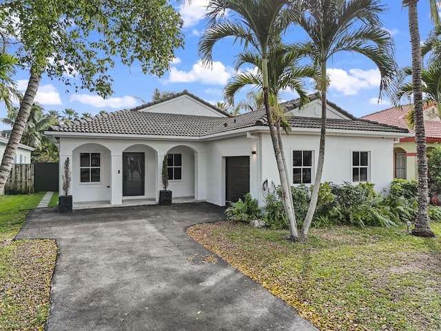
[[[408,137],[396,139],[393,144],[393,177],[398,179],[418,178],[415,131],[409,128],[406,121],[406,114],[411,109],[412,105],[406,105],[401,108],[381,110],[362,117],[362,119],[369,121],[409,129]],[[434,104],[424,106],[423,111],[426,146],[429,153],[435,147],[435,143],[441,143],[441,119],[436,115],[438,111]]]

